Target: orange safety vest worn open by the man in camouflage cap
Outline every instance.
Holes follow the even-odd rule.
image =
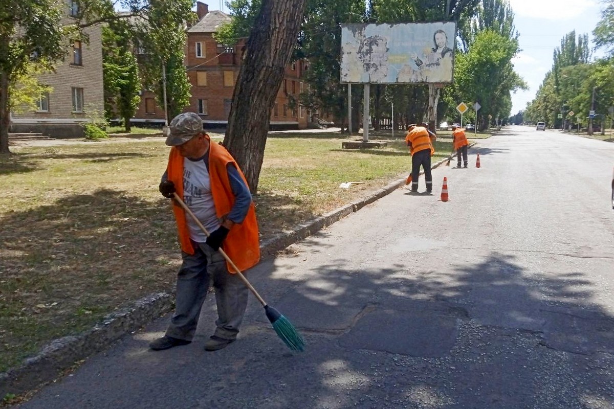
[[[235,195],[232,193],[228,171],[226,166],[228,163],[233,164],[239,170],[239,174],[247,185],[247,181],[241,169],[236,164],[235,159],[228,151],[218,143],[210,143],[209,145],[209,178],[211,180],[211,195],[213,203],[216,207],[217,217],[230,213],[230,210],[235,202]],[[179,155],[179,150],[173,147],[168,157],[168,166],[166,167],[168,180],[173,181],[177,194],[181,199],[184,198],[184,157]],[[195,250],[190,240],[190,232],[188,231],[186,218],[189,215],[185,214],[185,210],[181,205],[173,201],[173,213],[177,222],[177,230],[179,231],[179,243],[181,250],[188,254],[194,254]],[[256,221],[255,205],[252,201],[247,211],[247,216],[241,224],[235,224],[231,227],[230,232],[222,243],[223,251],[228,255],[239,270],[243,271],[249,267],[255,266],[260,261],[260,243],[258,239],[258,223]],[[228,271],[235,273],[235,270],[226,263]]]

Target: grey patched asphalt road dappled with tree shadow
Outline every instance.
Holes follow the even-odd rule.
[[[304,353],[254,297],[203,351],[209,297],[192,344],[147,349],[166,316],[20,407],[614,408],[613,166],[613,143],[504,128],[432,196],[397,189],[247,272]]]

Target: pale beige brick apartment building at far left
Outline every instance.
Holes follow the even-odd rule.
[[[78,4],[68,0],[66,17],[79,12]],[[52,90],[39,97],[37,110],[11,113],[9,132],[42,132],[49,136],[82,137],[80,126],[88,121],[85,112],[104,112],[102,30],[91,26],[84,30],[89,36],[86,44],[79,39],[72,41],[71,52],[55,72],[42,74],[39,82]]]

